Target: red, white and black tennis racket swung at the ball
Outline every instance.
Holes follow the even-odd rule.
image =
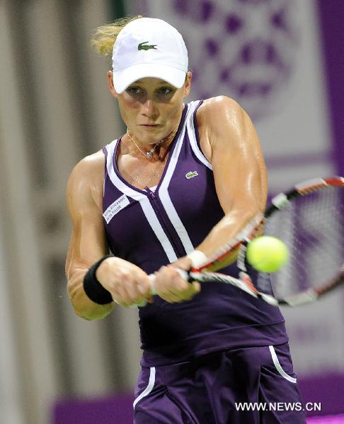
[[[246,262],[248,243],[261,235],[277,237],[289,249],[289,261],[276,273],[256,271]],[[273,197],[265,213],[255,216],[227,245],[197,269],[178,270],[188,281],[235,285],[270,305],[296,306],[318,300],[344,281],[344,178],[316,178]],[[239,249],[239,278],[211,272]],[[151,294],[154,293],[154,275]]]

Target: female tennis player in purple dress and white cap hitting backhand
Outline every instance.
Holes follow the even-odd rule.
[[[139,307],[134,423],[304,423],[280,310],[176,271],[197,266],[265,207],[251,119],[224,96],[184,102],[188,52],[164,20],[103,25],[93,44],[113,55],[108,88],[127,133],[71,173],[68,290],[85,319],[148,301]],[[222,272],[238,275],[235,264]]]

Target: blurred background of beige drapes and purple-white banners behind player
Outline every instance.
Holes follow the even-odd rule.
[[[343,1],[0,0],[0,424],[53,423],[52,411],[55,423],[86,424],[59,418],[54,404],[120,399],[124,410],[131,400],[114,396],[132,393],[139,371],[137,312],[74,314],[64,192],[74,165],[125,131],[91,30],[137,13],[184,35],[190,99],[229,95],[251,115],[271,193],[344,174]],[[343,293],[283,312],[305,393],[314,382],[343,392]],[[89,423],[130,422],[91,421],[90,411]]]

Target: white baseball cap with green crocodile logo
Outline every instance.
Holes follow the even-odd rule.
[[[113,45],[113,85],[122,93],[152,76],[180,88],[188,72],[188,50],[176,28],[161,19],[139,18],[125,25]]]

